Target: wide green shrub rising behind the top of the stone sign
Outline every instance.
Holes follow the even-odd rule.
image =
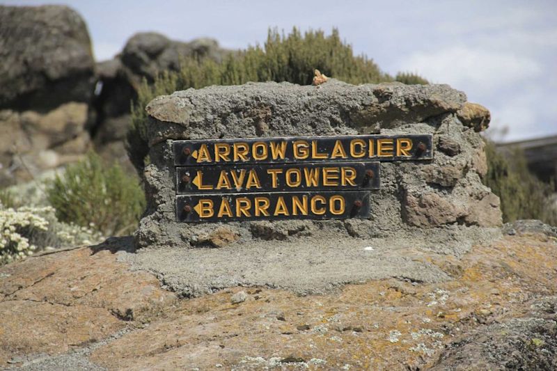
[[[157,95],[248,81],[290,81],[307,85],[311,84],[315,69],[350,84],[393,81],[393,77],[379,70],[372,59],[354,56],[352,47],[340,40],[336,29],[331,35],[325,35],[323,31],[308,31],[302,35],[298,29],[292,29],[289,35],[281,35],[276,30],[269,30],[262,47],[256,45],[230,53],[221,63],[209,58],[185,58],[179,72],[164,72],[152,85],[143,81],[138,99],[132,104],[132,125],[127,135],[130,159],[141,174],[148,149],[144,129],[145,106]],[[427,84],[415,74],[398,76],[400,81],[406,79],[411,84]]]

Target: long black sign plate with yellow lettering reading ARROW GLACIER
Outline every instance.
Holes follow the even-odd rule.
[[[174,141],[176,166],[432,159],[432,135],[298,136]]]

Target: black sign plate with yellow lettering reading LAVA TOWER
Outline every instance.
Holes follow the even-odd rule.
[[[178,194],[379,189],[379,162],[176,168]]]

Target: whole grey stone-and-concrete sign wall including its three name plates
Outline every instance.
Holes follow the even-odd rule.
[[[157,97],[146,108],[148,212],[136,242],[497,226],[476,132],[489,113],[477,107],[444,85],[334,80]]]

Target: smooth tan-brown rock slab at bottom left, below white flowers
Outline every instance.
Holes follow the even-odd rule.
[[[125,267],[108,249],[87,247],[1,267],[0,366],[96,342],[173,303],[155,277]]]

